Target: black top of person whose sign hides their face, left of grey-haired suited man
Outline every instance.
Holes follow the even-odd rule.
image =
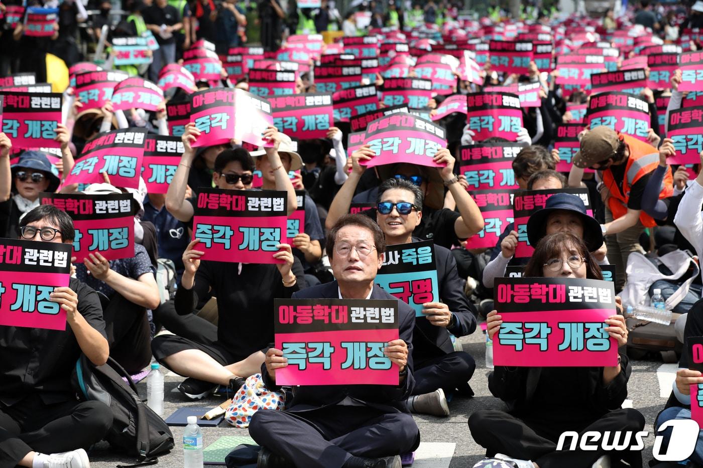
[[[193,288],[186,290],[179,284],[174,305],[181,316],[193,313],[198,297],[212,292],[219,313],[217,341],[235,356],[245,358],[273,343],[273,299],[290,299],[307,284],[298,259],[291,268],[297,276],[292,287],[283,287],[276,265],[241,264],[241,272],[239,265],[200,261]]]

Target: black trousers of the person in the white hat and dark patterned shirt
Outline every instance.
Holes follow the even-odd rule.
[[[141,372],[151,362],[151,328],[146,308],[115,293],[103,310],[110,357],[130,374]]]

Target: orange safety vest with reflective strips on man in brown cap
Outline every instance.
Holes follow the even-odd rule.
[[[603,183],[610,190],[608,207],[613,214],[613,219],[618,219],[627,213],[627,202],[630,199],[631,187],[640,178],[657,169],[659,165],[659,150],[657,148],[632,136],[620,134],[620,138],[625,141],[630,150],[630,156],[625,166],[625,180],[622,182],[624,193],[621,193],[618,188],[612,171],[610,169],[603,171]],[[659,199],[671,197],[671,195],[673,195],[673,176],[671,175],[671,167],[667,167],[664,182],[662,182],[662,190],[659,192]],[[647,228],[657,225],[654,218],[644,211],[640,213],[640,221]]]

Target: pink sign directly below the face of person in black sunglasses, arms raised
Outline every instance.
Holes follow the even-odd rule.
[[[285,192],[200,188],[193,239],[203,260],[280,264],[273,258],[288,228]]]

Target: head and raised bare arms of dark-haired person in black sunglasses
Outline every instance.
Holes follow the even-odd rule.
[[[176,169],[176,174],[174,174],[166,194],[166,209],[169,213],[174,215],[176,219],[184,223],[190,223],[193,219],[193,206],[198,201],[198,195],[196,193],[198,188],[186,183],[186,181],[188,181],[191,164],[193,164],[193,160],[197,154],[195,148],[191,148],[191,143],[195,141],[198,136],[200,136],[200,130],[195,127],[195,124],[193,124],[193,122],[186,124],[186,132],[181,137],[186,150],[181,156],[181,163],[178,169]],[[269,129],[264,132],[264,138],[272,139],[275,142],[274,148],[266,148],[266,157],[276,177],[276,190],[285,190],[288,192],[288,215],[290,215],[292,212],[295,212],[297,198],[290,178],[288,178],[288,172],[283,169],[283,164],[278,155],[278,145],[283,137],[283,134],[280,134],[275,126],[269,126]],[[200,150],[200,148],[198,148],[198,150]],[[249,152],[244,148],[219,152],[215,157],[212,167],[212,182],[207,181],[206,187],[213,186],[231,190],[247,190],[252,188],[254,164]],[[191,190],[193,190],[193,197],[186,200],[186,188],[188,187],[191,187]]]

